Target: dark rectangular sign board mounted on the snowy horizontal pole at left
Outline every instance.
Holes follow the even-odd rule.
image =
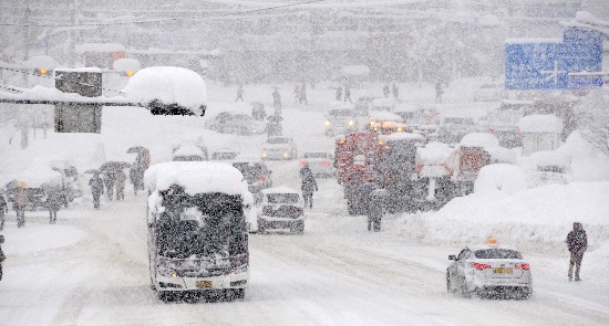
[[[102,73],[55,70],[55,88],[86,97],[102,95]],[[55,105],[55,133],[102,132],[102,106],[78,103]]]

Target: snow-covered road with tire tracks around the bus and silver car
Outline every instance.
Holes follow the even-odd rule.
[[[286,162],[271,164],[275,166]],[[331,189],[334,180],[320,181]],[[306,234],[250,236],[251,284],[244,302],[164,304],[149,290],[145,200],[33,218],[28,230],[66,238],[61,248],[23,243],[0,283],[0,325],[602,325],[609,287],[567,283],[556,259],[530,256],[529,301],[465,299],[445,291],[446,256],[386,230],[369,234],[363,217],[341,214],[326,191]],[[319,193],[321,194],[321,193]],[[343,208],[342,208],[343,209]],[[19,236],[9,222],[7,238]],[[51,233],[52,234],[52,233]],[[48,236],[48,235],[47,235]],[[33,245],[33,243],[32,243]],[[58,245],[61,245],[58,244]],[[34,246],[34,245],[33,245]]]

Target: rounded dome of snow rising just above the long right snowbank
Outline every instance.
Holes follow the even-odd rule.
[[[514,194],[527,189],[526,176],[513,165],[489,165],[483,167],[474,183],[474,192],[483,194]]]

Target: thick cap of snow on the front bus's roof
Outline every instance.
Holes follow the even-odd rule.
[[[247,185],[236,168],[209,161],[168,161],[154,165],[146,170],[145,185],[148,189],[163,190],[172,185],[184,187],[186,193],[221,192],[245,196]]]

